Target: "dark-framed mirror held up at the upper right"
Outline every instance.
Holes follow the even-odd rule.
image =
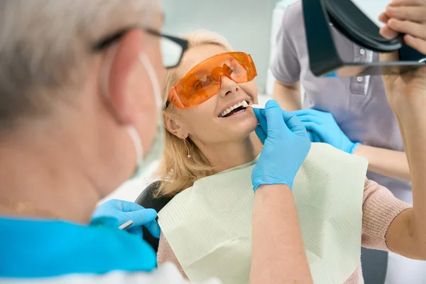
[[[404,44],[403,35],[386,39],[379,28],[351,0],[302,0],[307,50],[312,73],[321,77],[336,72],[341,77],[395,75],[426,66],[426,55]],[[397,62],[354,62],[342,58],[332,28],[357,45],[378,53],[398,51]]]

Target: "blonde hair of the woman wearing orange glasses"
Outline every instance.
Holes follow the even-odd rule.
[[[185,37],[188,49],[202,45],[217,45],[226,51],[232,51],[231,45],[221,35],[211,31],[199,30]],[[175,107],[169,104],[165,107],[170,89],[180,78],[179,67],[165,71],[163,84],[163,113],[173,113]],[[190,155],[190,158],[188,157]],[[196,180],[214,173],[212,165],[200,149],[188,137],[178,138],[167,129],[165,130],[165,151],[160,162],[159,176],[161,180],[155,196],[173,197],[182,190],[191,187]]]

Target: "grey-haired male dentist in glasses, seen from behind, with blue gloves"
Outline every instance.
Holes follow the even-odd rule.
[[[95,210],[160,153],[162,58],[187,48],[161,15],[158,1],[0,1],[0,283],[186,283],[141,238],[160,232],[152,209]],[[310,141],[278,104],[266,113],[251,283],[310,283],[290,190]]]

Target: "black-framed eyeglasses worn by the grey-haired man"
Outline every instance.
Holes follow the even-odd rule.
[[[93,46],[92,50],[94,52],[98,52],[99,50],[107,48],[109,45],[114,43],[114,41],[119,40],[123,35],[131,31],[133,28],[124,28],[123,30],[114,33],[114,35],[110,35],[109,37],[100,40],[96,45]],[[180,60],[182,60],[183,53],[185,53],[185,50],[187,50],[188,48],[187,40],[184,40],[182,38],[176,38],[171,35],[164,35],[151,28],[142,29],[143,31],[146,31],[151,35],[156,35],[161,38],[160,48],[164,67],[173,68],[178,66]]]

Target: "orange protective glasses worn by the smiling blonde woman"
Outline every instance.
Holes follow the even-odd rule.
[[[250,82],[257,76],[256,66],[246,53],[214,55],[195,65],[170,89],[168,102],[178,109],[201,104],[219,92],[222,75],[236,83]]]

